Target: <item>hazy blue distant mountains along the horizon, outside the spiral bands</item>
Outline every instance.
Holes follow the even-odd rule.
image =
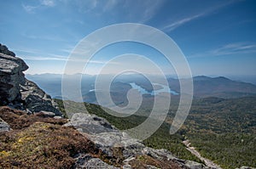
[[[81,76],[81,91],[85,102],[96,103],[96,91],[94,84],[96,76],[76,74],[70,76],[70,81],[74,77]],[[41,74],[41,75],[26,75],[33,82],[38,83],[46,93],[49,93],[53,98],[61,99],[61,78],[60,74]],[[105,76],[108,78],[108,75]],[[156,77],[157,78],[157,77]],[[169,87],[172,91],[179,93],[179,81],[169,77],[167,79]],[[182,79],[186,82],[186,79]],[[256,85],[248,82],[238,82],[230,80],[224,76],[209,77],[195,76],[194,81],[194,97],[195,98],[241,98],[245,96],[256,96]],[[126,93],[131,89],[130,83],[136,83],[139,87],[143,87],[148,92],[153,91],[152,84],[144,76],[140,75],[122,75],[114,79],[111,85],[111,96],[116,104],[126,103]],[[147,96],[154,97],[154,96]]]

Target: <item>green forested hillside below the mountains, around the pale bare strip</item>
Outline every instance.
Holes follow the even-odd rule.
[[[61,100],[56,102],[63,108]],[[189,139],[201,155],[225,169],[255,167],[255,102],[255,97],[195,99],[185,124],[171,136],[168,132],[174,115],[172,112],[177,109],[177,106],[172,105],[166,123],[143,143],[155,149],[169,149],[180,158],[198,161],[182,144],[184,139]],[[119,118],[108,115],[99,105],[84,105],[89,113],[106,118],[119,129],[136,127],[147,118],[139,115],[140,112],[137,115]]]

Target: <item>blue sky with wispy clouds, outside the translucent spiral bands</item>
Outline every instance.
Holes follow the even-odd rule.
[[[9,0],[0,8],[0,42],[26,61],[26,74],[62,74],[73,48],[93,31],[139,23],[171,37],[193,76],[256,75],[254,0]],[[152,59],[166,74],[174,73],[158,51],[137,42],[103,48],[84,73],[97,74],[109,59],[131,53]],[[126,60],[105,73],[113,73],[116,65],[146,66]],[[154,72],[149,66],[146,73]]]

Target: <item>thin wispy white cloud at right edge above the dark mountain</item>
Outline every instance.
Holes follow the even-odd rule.
[[[256,44],[250,42],[236,42],[226,44],[220,48],[215,48],[201,54],[192,54],[189,58],[209,57],[209,56],[224,56],[230,54],[255,54]]]

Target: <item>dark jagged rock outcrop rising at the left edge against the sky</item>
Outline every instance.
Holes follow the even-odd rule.
[[[0,105],[9,105],[30,113],[44,110],[61,115],[50,96],[36,83],[25,78],[23,71],[28,69],[26,63],[15,57],[4,45],[0,49]]]

